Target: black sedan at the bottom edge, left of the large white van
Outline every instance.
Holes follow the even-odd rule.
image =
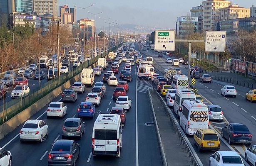
[[[48,166],[75,166],[80,156],[80,144],[73,140],[59,139],[53,143],[48,154]]]

